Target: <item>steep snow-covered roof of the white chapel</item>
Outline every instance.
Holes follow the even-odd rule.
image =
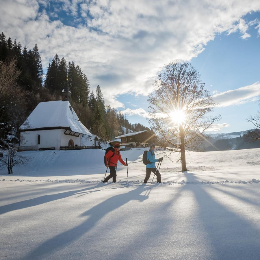
[[[20,130],[60,127],[73,132],[92,135],[79,121],[68,101],[40,102],[21,125]]]

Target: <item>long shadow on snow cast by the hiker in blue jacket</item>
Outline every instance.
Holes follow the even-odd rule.
[[[148,199],[149,190],[150,187],[140,185],[134,190],[108,198],[107,200],[82,213],[82,217],[89,216],[89,218],[82,224],[47,240],[32,252],[27,254],[23,259],[43,259],[44,257],[50,257],[54,250],[59,250],[66,247],[68,244],[73,243],[83,234],[90,231],[90,229],[92,229],[92,227],[94,227],[95,224],[109,212],[125,205],[131,200],[138,200],[142,202]],[[144,191],[148,192],[146,192],[145,195],[141,195]]]

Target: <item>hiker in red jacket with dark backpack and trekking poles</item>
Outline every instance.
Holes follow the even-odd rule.
[[[118,160],[120,161],[121,164],[128,166],[128,164],[126,164],[122,160],[119,149],[120,149],[120,144],[115,144],[114,151],[110,150],[105,155],[106,162],[107,162],[106,166],[107,166],[107,168],[109,167],[110,174],[104,179],[103,182],[107,182],[110,178],[113,178],[113,182],[116,182],[116,165],[117,165]]]

